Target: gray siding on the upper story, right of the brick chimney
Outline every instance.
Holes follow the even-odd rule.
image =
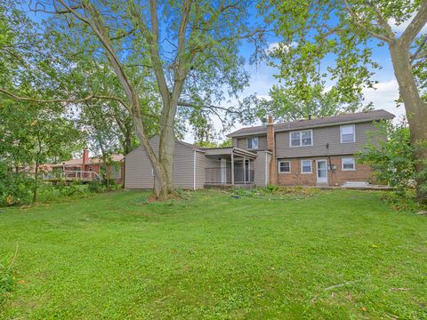
[[[313,128],[313,146],[294,147],[289,146],[290,132],[276,133],[276,154],[281,157],[302,156],[329,156],[329,155],[351,155],[362,149],[370,139],[369,132],[378,129],[373,123],[355,124],[356,142],[341,143],[340,125],[322,128]],[[381,139],[378,137],[376,139]],[[328,148],[326,148],[328,145]]]

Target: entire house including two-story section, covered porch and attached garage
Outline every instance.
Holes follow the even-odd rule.
[[[394,116],[374,110],[340,116],[252,126],[231,132],[229,148],[198,148],[177,140],[173,159],[176,187],[342,186],[347,181],[371,180],[356,153],[368,140],[385,139],[376,122]],[[150,140],[158,149],[158,137]],[[125,156],[125,188],[153,188],[154,172],[142,148]]]

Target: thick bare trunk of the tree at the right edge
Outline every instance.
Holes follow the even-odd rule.
[[[415,172],[417,182],[417,198],[420,202],[427,200],[427,193],[422,185],[426,183],[423,171],[427,159],[427,106],[420,97],[412,70],[409,47],[399,39],[389,44],[394,75],[398,80],[400,97],[405,104],[407,122],[409,124],[411,144],[415,148]]]

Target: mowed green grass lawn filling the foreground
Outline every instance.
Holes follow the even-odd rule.
[[[379,193],[145,196],[1,209],[0,318],[427,318],[427,216]]]

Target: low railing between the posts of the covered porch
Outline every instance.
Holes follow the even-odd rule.
[[[234,168],[234,184],[254,183],[254,170]],[[231,185],[231,168],[206,168],[205,184]]]

